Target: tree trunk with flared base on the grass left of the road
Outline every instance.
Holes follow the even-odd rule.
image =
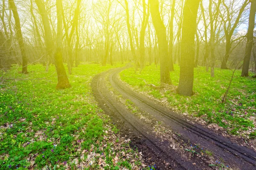
[[[55,67],[58,76],[56,89],[70,88],[71,85],[67,78],[63,61],[62,61],[62,0],[56,0],[57,7],[57,50],[55,54]]]

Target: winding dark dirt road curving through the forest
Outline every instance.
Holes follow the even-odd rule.
[[[211,151],[216,159],[223,160],[229,168],[256,170],[254,150],[233,143],[230,139],[135,93],[118,79],[119,72],[125,68],[127,67],[116,68],[94,77],[91,83],[93,94],[99,106],[111,116],[121,133],[131,139],[131,145],[143,153],[147,163],[154,162],[161,170],[215,169],[216,167],[209,166],[209,162],[212,161],[209,158],[191,154],[187,156],[189,152],[173,147],[173,143],[179,143],[181,148],[197,144]],[[111,90],[108,85],[111,85]],[[160,138],[150,123],[131,113],[113,92],[121,94],[124,99],[129,99],[144,115],[148,115],[149,119],[163,122],[163,125],[172,131],[172,140]]]

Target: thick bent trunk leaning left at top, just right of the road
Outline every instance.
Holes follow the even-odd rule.
[[[163,20],[160,16],[158,0],[150,0],[150,12],[158,40],[160,59],[160,82],[161,84],[172,84],[169,72],[169,56],[168,42],[166,39],[166,27],[164,26]]]

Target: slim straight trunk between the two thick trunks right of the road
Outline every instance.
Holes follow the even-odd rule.
[[[172,59],[172,52],[173,52],[173,19],[175,15],[175,0],[172,0],[172,9],[171,9],[171,19],[170,19],[170,41],[169,41],[169,71],[174,71],[173,67],[173,59]]]

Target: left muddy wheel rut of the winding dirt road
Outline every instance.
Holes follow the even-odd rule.
[[[193,160],[193,162],[185,160],[170,147],[168,141],[161,141],[154,133],[152,133],[151,129],[148,128],[145,123],[134,116],[134,114],[130,113],[130,111],[122,105],[116,103],[115,98],[111,96],[111,93],[106,88],[105,82],[105,77],[112,71],[113,70],[99,74],[93,78],[91,83],[93,94],[99,102],[99,106],[105,113],[110,115],[116,122],[122,120],[124,125],[131,130],[125,131],[125,135],[136,141],[134,145],[142,150],[143,154],[147,152],[146,155],[151,156],[154,162],[157,163],[157,167],[160,167],[162,170],[204,169],[208,164],[199,162],[198,160]],[[119,126],[123,126],[122,123],[119,122],[119,124]],[[198,164],[197,167],[192,164],[194,162]]]

